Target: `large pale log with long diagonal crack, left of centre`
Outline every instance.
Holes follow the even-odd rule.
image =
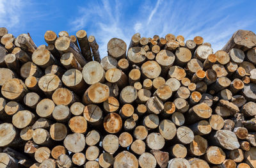
[[[51,96],[56,89],[61,88],[62,83],[57,75],[48,73],[38,80],[38,86],[45,95]]]

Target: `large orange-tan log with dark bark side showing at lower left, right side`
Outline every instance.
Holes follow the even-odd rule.
[[[210,118],[212,114],[212,109],[206,103],[199,103],[188,111],[189,123],[195,123],[202,119]]]

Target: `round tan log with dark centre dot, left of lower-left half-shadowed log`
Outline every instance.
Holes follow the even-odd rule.
[[[36,105],[36,114],[41,118],[50,118],[55,104],[49,98],[44,98]]]

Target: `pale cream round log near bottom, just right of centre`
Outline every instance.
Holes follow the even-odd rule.
[[[146,143],[150,149],[162,149],[165,144],[163,136],[155,132],[148,134]]]

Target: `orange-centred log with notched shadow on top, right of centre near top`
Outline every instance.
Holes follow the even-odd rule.
[[[161,66],[161,74],[165,76],[175,61],[175,55],[169,50],[161,50],[156,55],[156,61]]]

